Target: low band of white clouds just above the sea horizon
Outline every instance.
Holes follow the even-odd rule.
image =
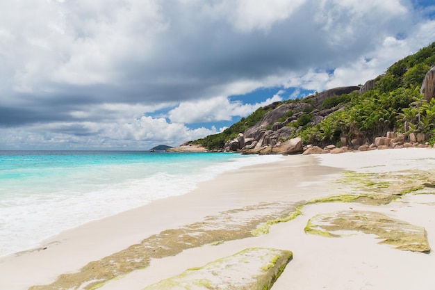
[[[163,118],[142,117],[124,123],[51,123],[21,129],[0,129],[0,150],[123,149],[149,150],[156,145],[178,146],[216,134],[216,128],[190,129]]]

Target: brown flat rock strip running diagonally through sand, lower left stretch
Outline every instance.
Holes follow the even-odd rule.
[[[98,289],[110,280],[146,268],[151,259],[174,256],[202,245],[252,237],[252,231],[258,225],[269,220],[284,220],[289,212],[295,210],[291,203],[262,203],[223,211],[206,217],[202,222],[149,236],[120,252],[91,261],[76,273],[62,274],[51,284],[35,285],[29,290]]]

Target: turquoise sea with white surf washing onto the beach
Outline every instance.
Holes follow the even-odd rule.
[[[50,236],[182,195],[218,174],[280,156],[232,153],[0,151],[0,257]]]

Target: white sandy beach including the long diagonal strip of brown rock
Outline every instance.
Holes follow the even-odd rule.
[[[433,170],[435,150],[427,149],[284,156],[276,163],[227,172],[186,195],[64,232],[33,251],[3,257],[0,289],[88,289],[93,282],[104,290],[143,289],[255,247],[293,252],[274,290],[435,289],[433,252],[397,250],[379,244],[376,233],[347,231],[354,235],[329,238],[304,231],[318,214],[376,211],[424,227],[434,246]],[[363,198],[327,202],[331,195]],[[379,195],[395,198],[380,203]],[[288,218],[297,209],[300,214]],[[263,229],[268,220],[279,219],[288,221]],[[263,234],[257,235],[258,229]]]

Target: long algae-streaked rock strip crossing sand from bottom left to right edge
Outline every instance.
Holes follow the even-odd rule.
[[[217,245],[225,241],[267,234],[270,226],[288,222],[302,214],[309,204],[323,202],[359,202],[383,205],[406,193],[424,186],[426,194],[434,193],[434,172],[422,170],[357,173],[345,172],[336,184],[350,186],[350,193],[329,195],[310,201],[274,202],[256,204],[208,216],[203,222],[179,229],[168,229],[149,236],[141,243],[131,245],[98,261],[91,261],[76,273],[60,275],[49,285],[33,286],[30,290],[98,289],[106,282],[149,266],[150,259],[177,255],[188,248]],[[388,186],[387,186],[388,185]],[[310,227],[308,227],[309,229]],[[327,235],[327,234],[325,234]]]

